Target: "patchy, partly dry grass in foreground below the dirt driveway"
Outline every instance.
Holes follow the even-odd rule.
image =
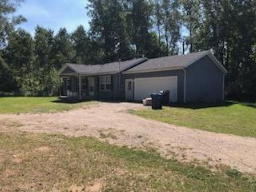
[[[0,191],[255,191],[256,178],[88,137],[0,132]]]

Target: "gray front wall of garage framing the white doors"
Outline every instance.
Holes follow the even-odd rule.
[[[158,72],[146,72],[136,74],[123,74],[122,76],[122,99],[125,100],[125,80],[135,78],[150,78],[150,77],[165,77],[165,76],[177,76],[178,77],[178,102],[184,100],[184,71],[183,70],[171,70],[171,71],[158,71]]]

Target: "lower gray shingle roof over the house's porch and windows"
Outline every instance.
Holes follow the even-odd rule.
[[[66,64],[66,66],[70,67],[72,70],[80,74],[116,73],[116,72],[122,72],[124,70],[127,70],[146,60],[147,58],[138,58],[138,59],[126,60],[122,62],[112,62],[112,63],[102,64],[102,65],[100,64],[84,65],[84,64],[68,63]],[[119,69],[119,63],[120,63],[120,69]]]

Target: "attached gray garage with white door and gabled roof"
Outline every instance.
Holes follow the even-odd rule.
[[[122,72],[123,98],[141,101],[169,90],[170,102],[222,101],[226,72],[210,51],[149,59]]]

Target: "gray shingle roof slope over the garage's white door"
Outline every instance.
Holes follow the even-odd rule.
[[[204,56],[209,51],[195,52],[186,55],[174,55],[174,56],[166,56],[160,58],[149,59],[142,64],[139,64],[129,70],[127,72],[136,72],[142,70],[154,70],[154,69],[163,69],[163,68],[175,68],[175,67],[184,67],[186,64],[193,62],[197,58]]]

